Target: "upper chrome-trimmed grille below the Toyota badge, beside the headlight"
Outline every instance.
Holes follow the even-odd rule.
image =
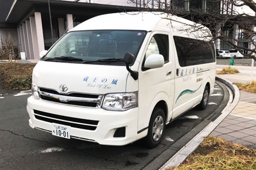
[[[41,99],[62,103],[64,105],[75,105],[83,107],[100,107],[102,101],[102,95],[93,95],[93,94],[82,94],[79,92],[70,92],[67,94],[59,93],[53,89],[45,89],[39,87],[39,95]]]

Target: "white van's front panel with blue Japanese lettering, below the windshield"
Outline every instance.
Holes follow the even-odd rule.
[[[40,61],[33,70],[33,83],[60,93],[108,94],[126,92],[128,73],[124,66]]]

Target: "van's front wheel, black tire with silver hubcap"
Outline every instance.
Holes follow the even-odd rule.
[[[165,120],[163,109],[155,108],[149,121],[148,134],[145,137],[145,142],[149,148],[158,146],[163,139]]]

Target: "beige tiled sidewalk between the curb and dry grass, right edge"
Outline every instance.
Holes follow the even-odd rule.
[[[222,75],[218,76],[222,77]],[[228,79],[227,75],[225,78]],[[232,78],[228,80],[232,83],[239,82],[238,79],[234,80],[233,78],[236,78],[236,74],[233,74]],[[237,106],[210,135],[256,149],[256,94],[240,91]]]

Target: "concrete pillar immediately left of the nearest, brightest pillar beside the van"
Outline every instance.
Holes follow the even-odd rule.
[[[35,27],[35,17],[29,17],[30,21],[30,30],[31,30],[31,35],[33,37],[32,43],[33,43],[33,55],[34,59],[40,59],[39,57],[39,50],[38,50],[38,37],[36,34],[36,27]]]

